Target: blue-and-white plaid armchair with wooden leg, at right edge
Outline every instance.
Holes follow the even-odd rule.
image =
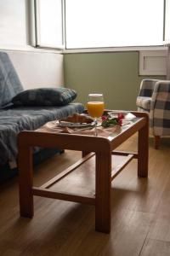
[[[136,105],[149,113],[150,134],[159,148],[160,138],[170,136],[170,80],[143,79]]]

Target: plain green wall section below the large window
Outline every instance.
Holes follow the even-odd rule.
[[[103,93],[105,108],[136,109],[139,84],[139,52],[65,54],[65,86],[77,90],[77,102],[88,93]],[[151,77],[150,78],[156,78]],[[164,79],[163,77],[157,77]]]

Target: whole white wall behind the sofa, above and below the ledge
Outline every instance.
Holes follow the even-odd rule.
[[[63,55],[28,45],[29,1],[0,0],[0,50],[8,53],[26,89],[59,86],[64,84]]]

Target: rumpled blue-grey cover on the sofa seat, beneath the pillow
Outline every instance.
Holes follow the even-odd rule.
[[[81,103],[64,107],[34,107],[0,109],[0,166],[16,160],[17,135],[23,130],[36,130],[46,122],[64,118],[72,113],[82,113]]]

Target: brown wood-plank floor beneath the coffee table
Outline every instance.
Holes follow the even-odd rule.
[[[136,145],[134,136],[121,149],[134,150]],[[43,162],[35,170],[35,184],[80,157],[78,152],[65,151]],[[82,171],[59,183],[59,189],[83,194],[92,188],[94,193],[93,160]],[[40,197],[35,197],[34,205],[34,218],[20,218],[18,178],[1,185],[0,255],[170,255],[170,139],[163,139],[159,150],[150,139],[148,179],[137,177],[133,160],[112,182],[110,235],[95,232],[92,206]]]

